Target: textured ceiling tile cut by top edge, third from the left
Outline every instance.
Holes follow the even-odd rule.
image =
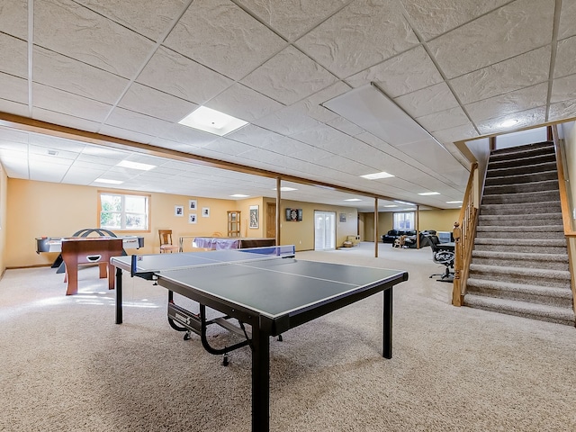
[[[151,40],[157,40],[165,33],[189,3],[185,0],[162,0],[139,2],[138,7],[134,7],[134,4],[126,1],[76,0],[76,2]]]

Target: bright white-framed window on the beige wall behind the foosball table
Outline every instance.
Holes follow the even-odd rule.
[[[100,227],[148,230],[149,195],[99,192]]]

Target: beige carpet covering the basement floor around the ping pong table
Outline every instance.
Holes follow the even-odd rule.
[[[451,306],[429,247],[373,256],[373,243],[297,254],[410,272],[394,291],[392,360],[382,294],[271,341],[271,430],[576,430],[576,329]],[[249,349],[221,366],[170,329],[166,290],[139,278],[125,276],[116,325],[95,272],[80,271],[76,296],[50,268],[0,281],[0,430],[249,431]]]

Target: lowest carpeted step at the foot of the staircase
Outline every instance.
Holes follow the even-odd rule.
[[[494,311],[516,315],[531,320],[542,320],[574,326],[576,321],[574,311],[565,308],[554,308],[529,302],[517,302],[482,295],[466,294],[464,296],[464,306],[482,309],[484,311]]]

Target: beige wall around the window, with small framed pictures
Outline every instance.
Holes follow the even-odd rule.
[[[51,264],[58,254],[36,254],[37,237],[67,237],[79,229],[98,226],[97,193],[103,188],[73,184],[53,184],[9,178],[7,193],[7,231],[5,249],[0,259],[4,267]],[[121,192],[115,190],[113,192]],[[188,223],[188,200],[197,200],[197,223]],[[233,200],[213,200],[193,196],[150,193],[150,230],[130,231],[144,237],[145,247],[139,253],[158,253],[158,229],[172,229],[174,243],[180,236],[211,236],[214,232],[227,235],[229,210],[242,210]],[[184,216],[175,216],[175,205],[184,206]],[[210,208],[210,217],[202,217],[202,208]],[[6,206],[4,206],[6,208]],[[242,218],[244,218],[242,211]],[[246,211],[247,215],[247,211]],[[4,231],[4,220],[2,220]],[[121,231],[115,231],[121,235]],[[244,227],[242,227],[244,232]],[[186,239],[186,248],[192,238]],[[130,250],[128,251],[130,253]]]

